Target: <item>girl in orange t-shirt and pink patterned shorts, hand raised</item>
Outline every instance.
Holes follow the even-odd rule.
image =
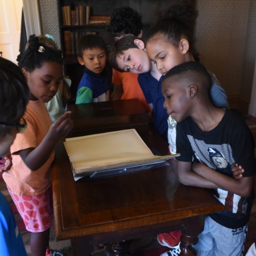
[[[54,147],[69,134],[73,123],[66,112],[51,125],[45,103],[51,100],[62,79],[62,53],[29,37],[29,47],[18,56],[27,80],[30,100],[24,115],[27,128],[11,146],[12,167],[3,174],[9,193],[26,229],[31,232],[33,256],[51,255],[52,169]]]

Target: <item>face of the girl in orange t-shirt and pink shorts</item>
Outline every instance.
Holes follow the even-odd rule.
[[[62,79],[63,68],[61,63],[44,62],[40,68],[29,72],[23,69],[28,82],[31,100],[40,100],[47,103],[57,93]]]

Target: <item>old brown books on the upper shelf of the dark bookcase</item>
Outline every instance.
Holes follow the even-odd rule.
[[[62,6],[62,20],[64,26],[108,25],[110,16],[90,16],[90,6],[79,5],[74,10],[71,9],[71,6]]]

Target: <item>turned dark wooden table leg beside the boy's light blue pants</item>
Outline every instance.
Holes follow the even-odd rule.
[[[187,218],[185,223],[182,225],[181,231],[181,243],[180,243],[180,255],[196,256],[197,252],[192,247],[196,244],[198,239],[197,236],[204,229],[205,216],[198,216],[194,218]]]

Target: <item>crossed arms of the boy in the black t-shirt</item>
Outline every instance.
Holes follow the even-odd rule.
[[[209,168],[203,163],[177,161],[180,182],[205,188],[222,188],[242,197],[248,197],[253,187],[253,177],[234,179]]]

